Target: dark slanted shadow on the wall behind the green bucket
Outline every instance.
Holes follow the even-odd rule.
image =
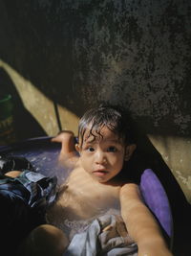
[[[44,129],[40,127],[32,117],[32,114],[23,105],[11,78],[3,68],[0,68],[0,88],[1,94],[4,92],[4,94],[11,94],[12,96],[13,126],[16,140],[46,135]]]

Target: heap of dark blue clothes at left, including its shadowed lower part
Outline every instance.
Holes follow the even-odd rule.
[[[16,255],[22,239],[46,222],[46,209],[56,197],[56,184],[56,177],[31,171],[15,178],[0,176],[0,248],[5,248],[4,255]]]

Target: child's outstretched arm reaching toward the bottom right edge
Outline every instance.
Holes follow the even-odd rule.
[[[138,244],[138,256],[170,256],[159,225],[141,201],[138,185],[125,184],[120,189],[121,215],[130,236]]]

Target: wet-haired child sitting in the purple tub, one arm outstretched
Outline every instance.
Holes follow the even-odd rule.
[[[60,227],[63,219],[65,226],[93,220],[118,204],[127,230],[138,244],[138,256],[172,255],[157,221],[141,200],[138,184],[127,178],[136,145],[121,111],[110,106],[90,109],[79,122],[76,144],[72,131],[61,132],[53,142],[62,143],[59,159],[73,172],[47,213],[50,223]]]

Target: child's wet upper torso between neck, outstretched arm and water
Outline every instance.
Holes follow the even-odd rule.
[[[110,208],[119,208],[118,186],[101,184],[80,170],[74,170],[65,185],[59,204],[73,219],[89,219]]]

